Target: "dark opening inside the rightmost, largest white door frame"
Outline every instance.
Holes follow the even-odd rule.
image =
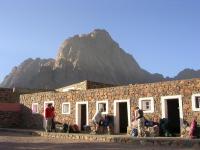
[[[180,134],[180,115],[178,99],[167,100],[169,130],[172,134]]]

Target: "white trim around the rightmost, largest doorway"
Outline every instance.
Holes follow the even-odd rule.
[[[174,96],[161,96],[161,109],[162,109],[162,118],[167,118],[167,100],[170,99],[178,99],[179,105],[179,117],[180,117],[180,129],[183,125],[183,102],[181,95],[174,95]]]

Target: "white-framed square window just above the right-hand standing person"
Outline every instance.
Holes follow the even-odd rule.
[[[139,108],[144,111],[144,113],[154,112],[154,100],[153,97],[145,97],[139,99]]]

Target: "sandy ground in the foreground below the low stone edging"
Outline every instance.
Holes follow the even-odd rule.
[[[152,147],[122,143],[73,141],[31,136],[23,133],[0,132],[0,150],[199,150],[199,148]]]

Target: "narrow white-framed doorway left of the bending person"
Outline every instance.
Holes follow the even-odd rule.
[[[84,130],[84,125],[88,125],[88,102],[76,103],[76,124],[80,130]]]

